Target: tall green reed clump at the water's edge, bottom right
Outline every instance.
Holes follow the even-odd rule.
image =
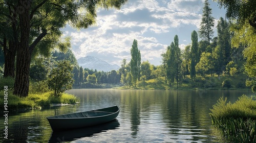
[[[243,95],[235,103],[220,98],[210,109],[212,124],[230,142],[256,142],[256,101]]]

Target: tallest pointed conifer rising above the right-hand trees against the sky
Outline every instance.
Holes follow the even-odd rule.
[[[210,44],[211,37],[214,36],[214,17],[211,14],[210,4],[208,0],[205,0],[199,36],[207,40],[208,44]]]

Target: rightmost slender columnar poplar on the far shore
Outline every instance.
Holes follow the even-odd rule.
[[[196,58],[198,56],[198,35],[194,30],[191,33],[191,64],[190,64],[190,78],[195,81],[196,78]]]

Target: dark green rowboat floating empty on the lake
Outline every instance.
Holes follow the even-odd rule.
[[[90,111],[47,117],[53,131],[95,126],[114,120],[119,114],[119,107],[94,109]]]

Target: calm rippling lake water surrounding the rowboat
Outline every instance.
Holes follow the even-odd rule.
[[[8,139],[0,118],[0,142],[225,142],[212,127],[210,108],[220,97],[232,103],[250,90],[73,89],[79,105],[9,113]],[[52,132],[46,116],[118,105],[117,120],[90,128]]]

